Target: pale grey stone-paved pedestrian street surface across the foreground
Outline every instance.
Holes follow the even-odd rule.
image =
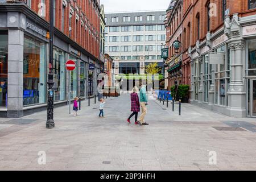
[[[108,97],[105,118],[97,102],[82,101],[77,117],[55,109],[22,119],[0,118],[0,170],[255,170],[256,119],[232,118],[190,104],[172,112],[151,100],[148,126],[126,122],[130,96]],[[243,131],[213,127],[241,127]],[[41,153],[40,153],[41,152]],[[46,164],[42,152],[46,154]],[[216,155],[215,155],[216,154]],[[216,163],[215,163],[216,162]]]

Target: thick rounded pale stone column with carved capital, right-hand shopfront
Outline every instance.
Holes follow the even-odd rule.
[[[245,64],[245,40],[232,39],[230,48],[231,80],[228,90],[228,110],[233,117],[246,117],[246,92],[243,85]]]

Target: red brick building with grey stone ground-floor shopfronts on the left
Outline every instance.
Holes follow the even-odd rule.
[[[97,77],[104,72],[100,59],[100,1],[52,1],[52,64],[48,56],[49,2],[0,3],[0,107],[5,108],[0,117],[22,117],[45,109],[49,68],[54,72],[55,106],[67,103],[69,93],[72,99],[97,94]],[[76,63],[70,76],[65,68],[67,60]]]

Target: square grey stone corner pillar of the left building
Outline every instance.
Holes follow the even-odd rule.
[[[19,118],[23,117],[23,31],[26,29],[26,16],[7,13],[7,27],[9,27],[7,117]]]

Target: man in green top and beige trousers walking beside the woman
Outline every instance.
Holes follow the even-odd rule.
[[[144,117],[147,114],[147,90],[146,86],[142,85],[142,82],[139,83],[139,86],[141,87],[141,90],[139,90],[139,101],[141,102],[142,114],[138,119],[138,123],[139,125],[148,125],[148,123],[144,121]]]

